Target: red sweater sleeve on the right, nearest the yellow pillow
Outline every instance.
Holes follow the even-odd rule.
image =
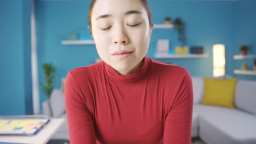
[[[193,112],[193,87],[186,70],[184,79],[172,99],[164,127],[164,144],[190,144]]]

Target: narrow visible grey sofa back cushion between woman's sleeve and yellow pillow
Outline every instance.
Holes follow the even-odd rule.
[[[202,102],[203,97],[203,77],[192,77],[194,103]]]

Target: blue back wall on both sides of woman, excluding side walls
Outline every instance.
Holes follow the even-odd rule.
[[[37,1],[37,34],[39,81],[43,83],[42,63],[52,62],[57,67],[59,78],[65,77],[68,70],[89,65],[98,57],[95,45],[61,45],[67,35],[78,32],[90,38],[88,8],[90,1]],[[236,2],[203,1],[149,1],[154,23],[162,23],[166,16],[182,17],[187,25],[188,46],[202,45],[208,58],[199,59],[157,59],[166,63],[177,63],[189,69],[192,76],[212,76],[212,45],[225,44],[226,71],[232,75],[232,53],[234,49],[234,20]],[[147,56],[154,59],[158,39],[170,39],[171,51],[180,45],[174,29],[154,29]],[[60,79],[55,83],[59,88]],[[40,91],[40,100],[46,97]]]

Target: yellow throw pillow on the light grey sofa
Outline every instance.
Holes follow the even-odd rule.
[[[202,104],[229,107],[234,109],[234,96],[237,79],[210,79],[204,77],[205,94]]]

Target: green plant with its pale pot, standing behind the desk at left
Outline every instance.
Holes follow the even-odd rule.
[[[55,66],[51,63],[43,63],[42,68],[44,70],[44,82],[45,84],[41,84],[40,87],[42,88],[44,94],[47,97],[47,100],[43,102],[43,113],[49,117],[53,115],[50,98],[51,93],[53,92],[54,88],[54,79],[56,78],[55,75]]]

